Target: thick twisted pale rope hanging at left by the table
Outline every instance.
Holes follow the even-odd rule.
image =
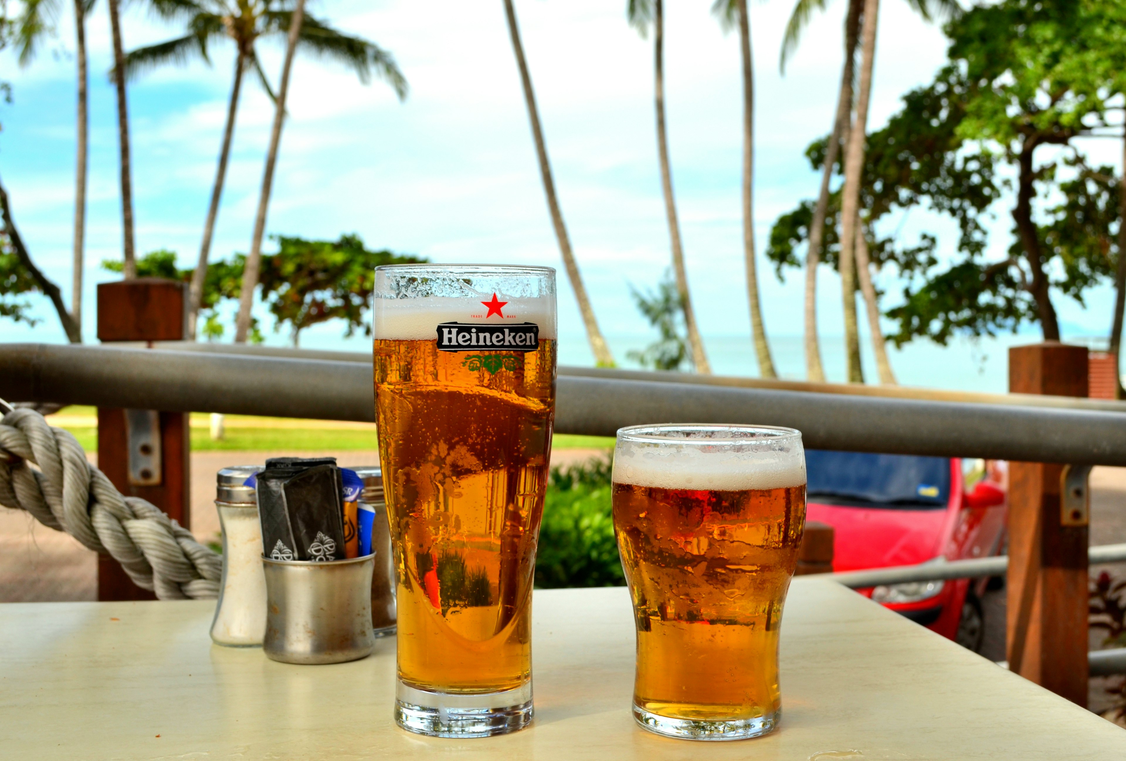
[[[123,496],[70,431],[47,426],[33,410],[0,419],[0,505],[26,510],[111,555],[133,583],[161,600],[218,596],[221,556],[152,503]]]

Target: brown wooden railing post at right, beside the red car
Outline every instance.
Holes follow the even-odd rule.
[[[1009,349],[1011,393],[1087,396],[1087,382],[1085,347]],[[1009,465],[1006,645],[1012,671],[1085,706],[1088,526],[1061,516],[1064,467]]]

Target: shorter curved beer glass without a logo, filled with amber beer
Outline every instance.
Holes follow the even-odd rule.
[[[691,740],[775,728],[778,625],[804,522],[798,431],[618,431],[614,528],[637,626],[641,726]]]

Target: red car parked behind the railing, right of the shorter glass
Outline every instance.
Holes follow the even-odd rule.
[[[807,520],[834,529],[833,570],[942,563],[1003,552],[1004,463],[807,450]],[[858,590],[977,651],[989,580],[912,582]]]

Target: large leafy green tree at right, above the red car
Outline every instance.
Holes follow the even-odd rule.
[[[1058,339],[1049,292],[1081,299],[1114,271],[1120,261],[1111,235],[1117,180],[1088,168],[1074,138],[1106,133],[1107,101],[1124,92],[1124,14],[1109,0],[1007,0],[947,24],[950,63],[867,136],[861,226],[874,262],[894,265],[906,279],[902,304],[886,312],[899,328],[890,340],[924,337],[945,344],[956,334],[992,335],[1024,321],[1039,322],[1045,338]],[[811,145],[814,165],[821,165],[825,142]],[[1036,150],[1045,145],[1064,150],[1043,160]],[[1016,198],[1006,195],[1004,171],[1016,176]],[[1013,241],[1009,256],[994,261],[985,256],[983,221],[1006,197]],[[1034,204],[1043,211],[1034,212]],[[841,205],[834,198],[830,215]],[[874,235],[885,215],[914,207],[958,224],[955,257],[939,257],[932,236],[897,248],[894,235]],[[776,265],[796,263],[808,208],[775,225],[768,256]],[[840,242],[828,235],[826,242],[826,259],[839,266]]]

